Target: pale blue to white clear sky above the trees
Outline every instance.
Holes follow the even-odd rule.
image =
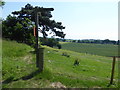
[[[2,10],[4,19],[27,3],[45,8],[52,7],[54,11],[52,11],[51,19],[62,22],[62,25],[66,27],[63,29],[66,34],[65,39],[118,40],[118,1],[5,1],[6,4]]]

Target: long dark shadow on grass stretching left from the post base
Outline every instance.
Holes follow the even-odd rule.
[[[18,80],[21,80],[21,79],[22,79],[22,80],[28,80],[28,79],[31,79],[31,78],[33,78],[34,76],[38,75],[39,73],[41,73],[41,72],[40,72],[39,70],[36,70],[36,71],[30,73],[29,75],[23,76],[23,77],[18,78],[18,79],[14,79],[14,77],[9,77],[9,78],[7,78],[6,80],[4,80],[4,81],[2,82],[2,84],[8,84],[8,83],[11,83],[11,82],[13,82],[13,81],[18,81]]]

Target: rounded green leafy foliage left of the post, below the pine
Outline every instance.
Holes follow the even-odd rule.
[[[2,35],[4,38],[34,46],[33,24],[28,18],[21,20],[20,18],[9,15],[3,21],[2,25]]]

